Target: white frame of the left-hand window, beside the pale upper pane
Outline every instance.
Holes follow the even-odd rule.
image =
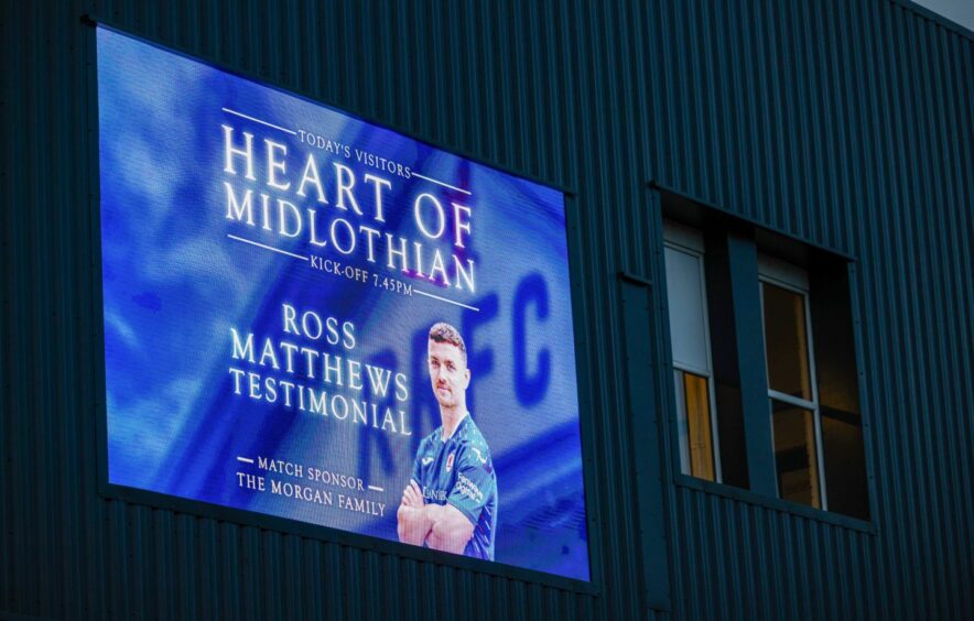
[[[704,337],[704,347],[706,348],[706,358],[707,358],[707,368],[701,369],[694,367],[692,364],[680,363],[677,360],[673,360],[673,369],[678,371],[682,371],[685,373],[692,373],[697,377],[702,377],[706,379],[707,383],[707,401],[710,405],[710,422],[711,422],[711,447],[713,451],[714,459],[714,481],[717,483],[722,483],[724,481],[724,473],[721,469],[721,438],[719,433],[717,431],[717,402],[716,402],[716,391],[714,386],[714,360],[713,355],[711,352],[711,326],[710,326],[710,313],[707,307],[707,292],[706,292],[706,270],[704,269],[704,242],[703,235],[694,229],[689,227],[684,227],[682,225],[678,225],[675,222],[664,221],[663,222],[663,246],[665,248],[670,248],[677,252],[683,252],[685,254],[690,254],[695,258],[697,261],[697,266],[700,269],[700,299],[703,304],[703,337]],[[665,259],[664,259],[665,262]],[[672,342],[672,335],[670,335],[670,342]],[[677,382],[677,378],[674,374],[674,388],[677,389],[677,402],[675,405],[678,408],[685,407],[686,396],[683,394],[684,388],[682,382]],[[680,413],[678,411],[677,415]],[[679,434],[678,428],[678,434]],[[683,437],[678,435],[677,442],[679,442],[682,446]],[[679,449],[679,447],[678,447]],[[678,454],[680,451],[678,450]],[[682,456],[680,470],[683,475],[692,476],[690,472],[683,471]]]

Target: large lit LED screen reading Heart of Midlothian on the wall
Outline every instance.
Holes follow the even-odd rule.
[[[587,580],[562,194],[97,41],[108,482]]]

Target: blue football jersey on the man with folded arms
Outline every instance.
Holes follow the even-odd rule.
[[[428,503],[448,502],[474,525],[464,555],[494,560],[497,475],[490,449],[469,415],[446,442],[441,438],[442,431],[442,426],[436,427],[420,443],[412,478]]]

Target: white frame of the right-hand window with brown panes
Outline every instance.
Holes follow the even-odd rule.
[[[803,307],[804,307],[804,316],[805,316],[805,339],[808,340],[808,366],[809,366],[809,383],[811,389],[812,400],[808,401],[805,399],[801,399],[798,396],[792,396],[790,394],[779,392],[776,390],[771,390],[770,380],[768,382],[768,421],[771,425],[771,429],[775,428],[775,413],[771,407],[770,400],[779,401],[782,403],[788,403],[789,405],[794,405],[796,407],[801,407],[803,410],[809,410],[812,412],[812,421],[815,431],[815,470],[819,477],[819,493],[820,493],[820,502],[822,505],[822,511],[829,511],[829,490],[825,486],[825,460],[823,458],[822,450],[822,413],[819,410],[819,382],[815,370],[815,345],[814,338],[812,335],[812,309],[810,304],[810,286],[809,286],[809,277],[804,270],[792,265],[791,263],[786,263],[779,259],[775,259],[772,257],[768,257],[766,254],[758,254],[758,281],[760,283],[768,283],[773,286],[781,287],[787,291],[791,291],[792,293],[797,293],[801,295]],[[760,288],[760,297],[761,297],[761,329],[765,330],[765,287]],[[767,333],[766,333],[767,334]],[[768,347],[765,344],[765,377],[770,379],[770,373],[768,372]],[[775,454],[775,434],[771,434],[771,454]],[[777,472],[777,465],[775,467]],[[778,477],[775,477],[775,486],[778,487]],[[778,498],[781,498],[781,490],[777,489]]]

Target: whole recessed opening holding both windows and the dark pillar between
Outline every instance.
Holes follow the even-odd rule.
[[[848,260],[689,204],[663,197],[696,227],[663,225],[675,466],[868,520]]]

